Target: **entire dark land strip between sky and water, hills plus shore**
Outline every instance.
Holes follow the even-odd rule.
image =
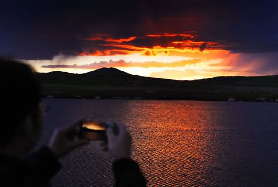
[[[144,97],[149,99],[256,100],[278,98],[278,76],[214,77],[193,81],[131,75],[116,68],[84,74],[36,73],[43,95],[76,98]]]

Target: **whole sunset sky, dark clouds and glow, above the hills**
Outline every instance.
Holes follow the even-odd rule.
[[[0,56],[38,72],[278,74],[277,1],[5,1]]]

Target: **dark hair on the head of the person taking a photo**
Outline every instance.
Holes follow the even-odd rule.
[[[6,145],[26,115],[37,109],[40,85],[31,66],[0,58],[0,146]]]

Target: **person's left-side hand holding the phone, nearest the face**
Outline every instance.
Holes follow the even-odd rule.
[[[48,147],[57,158],[89,142],[88,140],[80,139],[78,136],[81,122],[79,121],[65,127],[58,127],[54,130]]]

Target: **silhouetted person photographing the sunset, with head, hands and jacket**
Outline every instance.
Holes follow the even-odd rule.
[[[82,121],[57,127],[48,145],[30,154],[42,134],[40,84],[32,67],[20,61],[1,58],[0,70],[0,185],[50,186],[49,180],[61,168],[58,158],[88,143],[78,136]],[[146,186],[140,167],[130,157],[131,136],[121,124],[118,130],[117,134],[112,128],[106,131],[115,186]]]

